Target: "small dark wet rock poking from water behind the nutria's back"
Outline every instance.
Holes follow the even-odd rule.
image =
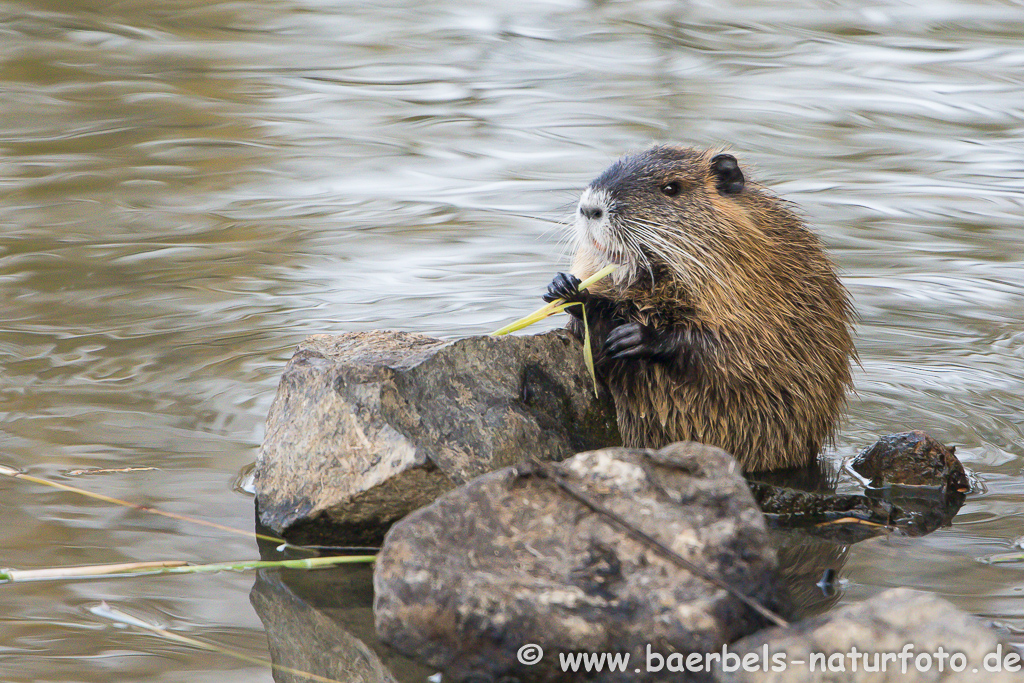
[[[872,486],[936,486],[965,492],[971,485],[953,451],[920,430],[889,434],[864,449],[854,459],[853,469],[870,479]]]

